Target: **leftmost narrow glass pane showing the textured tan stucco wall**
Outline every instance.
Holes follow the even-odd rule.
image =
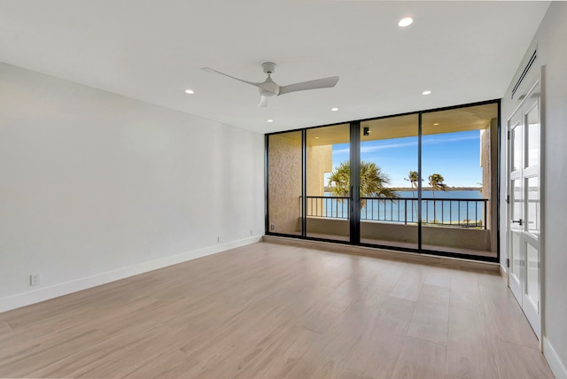
[[[301,132],[268,136],[268,231],[301,235]]]

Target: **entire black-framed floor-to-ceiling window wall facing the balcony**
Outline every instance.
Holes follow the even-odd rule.
[[[497,258],[498,102],[267,135],[267,234]]]

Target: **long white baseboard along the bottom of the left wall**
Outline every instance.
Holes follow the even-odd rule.
[[[183,252],[181,254],[150,260],[147,262],[141,262],[134,266],[122,267],[117,270],[87,276],[71,282],[62,282],[38,290],[32,290],[6,298],[0,298],[0,313],[19,308],[21,306],[29,306],[31,304],[39,303],[44,300],[49,300],[50,298],[58,298],[59,296],[68,295],[79,290],[87,290],[101,284],[128,278],[129,276],[147,273],[158,268],[172,266],[191,259],[206,257],[207,255],[234,249],[240,246],[245,246],[246,244],[253,244],[259,242],[261,238],[262,236],[251,236],[226,244],[215,244],[203,249]]]

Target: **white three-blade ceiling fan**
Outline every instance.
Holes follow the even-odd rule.
[[[287,86],[279,86],[275,81],[272,81],[271,77],[272,73],[276,71],[276,64],[272,62],[265,62],[262,63],[262,68],[264,69],[264,73],[268,74],[268,78],[266,78],[266,80],[262,81],[261,83],[243,81],[242,79],[235,78],[234,76],[230,76],[226,73],[221,73],[210,67],[202,67],[201,69],[205,70],[208,73],[218,73],[224,76],[228,76],[229,78],[236,79],[237,81],[242,81],[247,84],[252,84],[252,86],[258,87],[258,89],[260,90],[260,103],[258,103],[258,106],[262,107],[268,105],[268,97],[281,96],[290,92],[304,91],[307,89],[329,89],[335,87],[338,82],[338,76],[331,76],[329,78],[315,79],[315,81],[301,81],[299,83],[290,84]]]

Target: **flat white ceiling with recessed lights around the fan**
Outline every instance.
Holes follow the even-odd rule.
[[[500,98],[548,4],[0,0],[0,60],[268,133]],[[254,87],[199,69],[263,81],[265,61],[280,85],[340,80],[258,108]]]

